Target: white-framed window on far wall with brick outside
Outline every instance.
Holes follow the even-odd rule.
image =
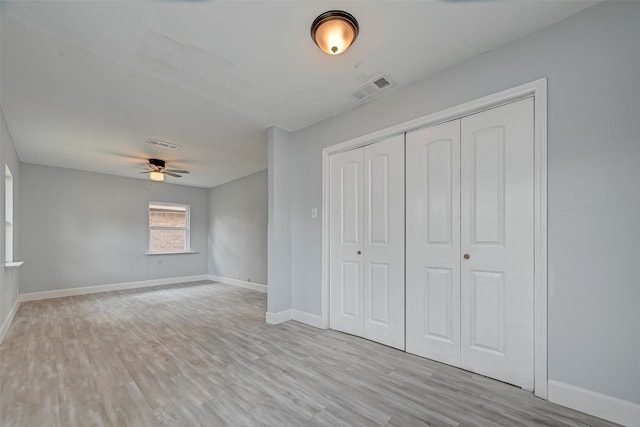
[[[188,252],[189,205],[149,203],[149,252]]]

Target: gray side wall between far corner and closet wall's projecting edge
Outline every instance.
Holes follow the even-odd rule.
[[[267,284],[267,171],[209,190],[209,273]]]

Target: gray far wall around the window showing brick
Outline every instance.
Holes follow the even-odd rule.
[[[208,274],[207,189],[32,164],[20,178],[20,292]],[[145,255],[149,201],[191,206],[197,254]]]

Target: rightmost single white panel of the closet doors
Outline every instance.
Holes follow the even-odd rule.
[[[461,366],[532,390],[533,99],[461,129]]]

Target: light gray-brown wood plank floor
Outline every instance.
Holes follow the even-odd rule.
[[[0,425],[608,426],[518,388],[296,322],[212,282],[23,303]]]

